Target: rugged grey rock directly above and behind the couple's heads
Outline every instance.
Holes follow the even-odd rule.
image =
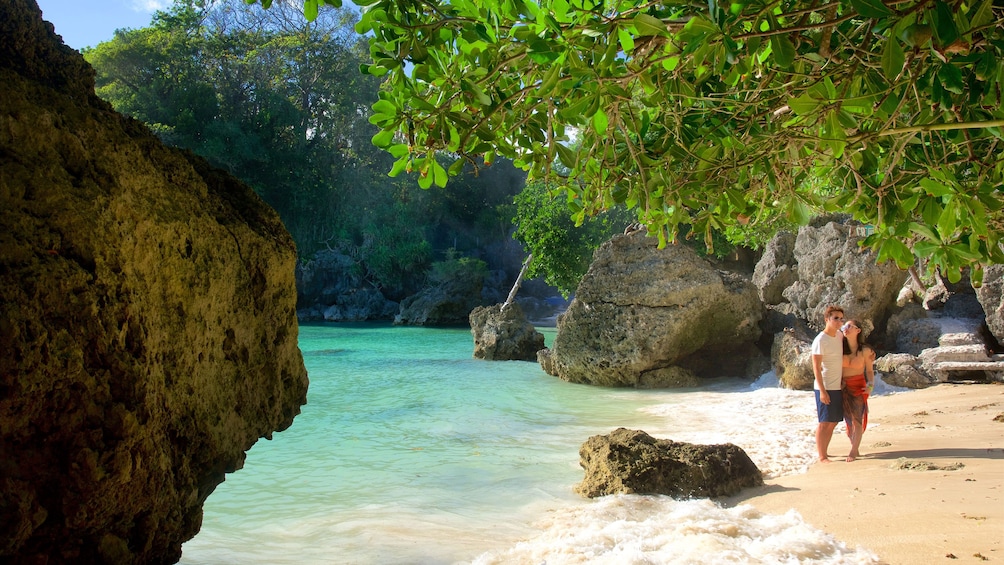
[[[779,234],[775,237],[779,242],[772,242],[768,249],[785,249],[789,237]],[[861,320],[867,329],[883,331],[909,275],[893,262],[877,264],[874,253],[858,246],[860,240],[857,228],[851,223],[822,219],[799,228],[792,251],[798,278],[781,292],[783,302],[766,303],[785,306],[783,311],[795,314],[817,329],[821,328],[826,306],[839,304],[848,317]],[[787,269],[793,267],[783,263],[788,259],[780,251],[765,254],[765,259],[781,263]],[[754,271],[762,274],[754,281],[765,301],[768,297],[777,298],[776,287],[787,280],[789,273],[781,266],[771,266],[773,263],[758,264]],[[768,273],[779,274],[768,277]]]

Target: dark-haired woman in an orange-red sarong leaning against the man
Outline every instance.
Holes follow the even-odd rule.
[[[851,462],[861,457],[858,450],[868,425],[868,394],[875,383],[875,351],[861,339],[857,320],[847,320],[840,330],[843,332],[843,422],[850,439],[847,461]]]

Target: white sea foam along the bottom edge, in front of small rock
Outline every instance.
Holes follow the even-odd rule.
[[[767,515],[707,500],[614,495],[552,513],[538,536],[485,553],[473,565],[877,563],[816,530],[794,511]]]

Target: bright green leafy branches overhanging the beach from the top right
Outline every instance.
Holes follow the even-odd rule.
[[[356,30],[392,175],[498,155],[664,244],[839,211],[903,268],[1004,262],[992,0],[376,0]]]

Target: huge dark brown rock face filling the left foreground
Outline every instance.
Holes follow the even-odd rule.
[[[0,561],[172,563],[305,401],[296,254],[247,187],[0,0]]]

